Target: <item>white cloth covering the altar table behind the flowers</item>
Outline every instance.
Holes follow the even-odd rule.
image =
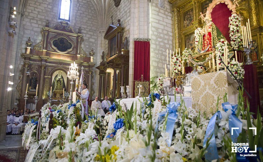
[[[165,101],[167,101],[167,96],[161,96],[165,97]],[[174,102],[174,96],[168,96],[171,99],[171,102]],[[186,108],[192,107],[192,97],[182,97],[184,100],[184,104]],[[147,100],[149,100],[149,97],[146,97]],[[133,102],[133,108],[135,109],[135,104],[137,104],[137,110],[140,108],[140,101],[142,102],[142,97],[140,98],[124,98],[124,99],[116,99],[116,101],[120,101],[120,104],[124,103],[127,109],[131,108],[131,104]],[[176,96],[176,102],[181,102],[181,97]]]

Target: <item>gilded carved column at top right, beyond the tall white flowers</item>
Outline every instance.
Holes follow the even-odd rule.
[[[251,26],[258,26],[259,25],[259,18],[258,18],[258,4],[256,2],[256,0],[249,0],[249,18],[250,18],[250,22],[251,22]]]

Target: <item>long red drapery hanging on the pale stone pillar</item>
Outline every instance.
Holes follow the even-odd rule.
[[[150,42],[134,41],[133,80],[139,80],[142,75],[144,80],[150,81]]]

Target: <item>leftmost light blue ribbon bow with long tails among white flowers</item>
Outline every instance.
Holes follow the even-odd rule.
[[[169,133],[169,139],[166,140],[168,146],[171,146],[171,142],[172,142],[172,136],[173,136],[173,127],[174,127],[174,123],[175,120],[177,118],[177,109],[178,106],[180,106],[181,104],[178,102],[171,102],[170,104],[166,105],[166,111],[163,111],[161,113],[159,113],[159,118],[161,116],[165,116],[165,114],[168,113],[168,118],[167,118],[167,123],[166,123],[166,132]]]

